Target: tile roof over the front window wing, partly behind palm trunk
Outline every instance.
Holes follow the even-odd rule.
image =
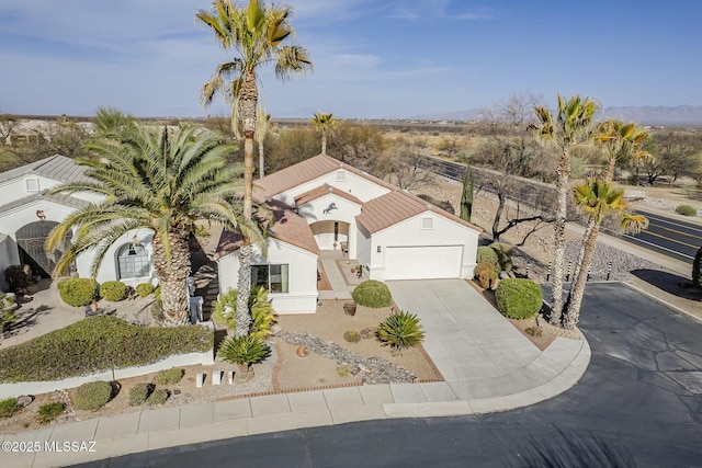
[[[290,206],[282,202],[269,201],[265,206],[271,210],[273,216],[273,225],[269,228],[270,237],[308,252],[319,254],[319,247],[305,218],[293,212]],[[215,251],[215,259],[220,259],[236,251],[241,247],[241,243],[242,238],[240,233],[224,229]]]

